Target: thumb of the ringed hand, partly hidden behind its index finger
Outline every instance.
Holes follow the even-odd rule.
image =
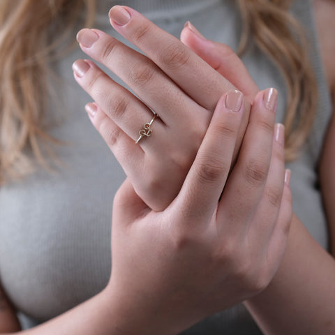
[[[253,101],[259,89],[241,59],[228,45],[207,40],[191,22],[186,22],[180,39],[214,70],[242,91],[246,98]]]

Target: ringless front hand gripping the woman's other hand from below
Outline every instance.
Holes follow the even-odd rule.
[[[275,101],[269,108],[260,92],[228,178],[242,119],[241,107],[225,105],[230,94],[168,208],[152,211],[128,179],[117,193],[107,292],[124,334],[176,334],[258,294],[281,261],[292,215],[283,126],[274,128]]]

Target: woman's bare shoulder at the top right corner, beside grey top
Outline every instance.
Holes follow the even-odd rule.
[[[313,0],[313,10],[318,30],[322,62],[329,89],[335,102],[335,1]]]

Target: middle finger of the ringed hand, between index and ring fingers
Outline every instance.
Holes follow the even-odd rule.
[[[90,36],[96,40],[92,44]],[[82,50],[112,70],[141,101],[154,110],[165,124],[178,127],[175,120],[183,114],[198,113],[209,123],[210,113],[195,103],[150,59],[97,29],[82,29],[77,34]]]

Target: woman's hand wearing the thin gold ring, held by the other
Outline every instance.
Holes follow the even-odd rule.
[[[123,25],[122,13],[130,18]],[[115,6],[110,17],[113,27],[147,57],[102,31],[83,29],[77,39],[84,52],[110,68],[139,98],[107,77],[92,61],[75,62],[75,79],[96,101],[87,105],[91,121],[121,163],[136,193],[159,211],[178,194],[218,98],[234,86],[177,38],[135,10]],[[233,58],[234,66],[241,68],[239,75],[250,82],[241,61],[236,55]],[[244,90],[246,101],[234,156],[256,91],[255,85]],[[241,95],[232,98],[240,101]],[[151,137],[135,144],[143,125],[153,119],[151,110],[159,116],[150,126]]]

